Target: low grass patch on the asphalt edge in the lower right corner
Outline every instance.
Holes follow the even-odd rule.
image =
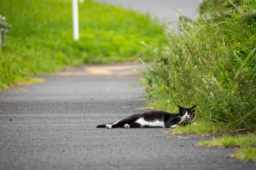
[[[256,162],[256,135],[252,133],[248,133],[245,136],[232,137],[230,135],[223,135],[223,137],[213,137],[212,140],[198,142],[198,145],[208,147],[242,147],[235,154],[230,154],[230,157],[247,162]]]

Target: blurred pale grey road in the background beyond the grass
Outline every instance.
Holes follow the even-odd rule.
[[[197,8],[199,0],[95,0],[104,3],[110,3],[124,8],[132,8],[141,13],[150,13],[152,18],[157,18],[160,23],[170,23],[174,29],[178,24],[176,11],[180,11],[183,16],[195,18],[198,16]],[[172,7],[172,8],[171,8]],[[174,9],[176,11],[174,11]]]

